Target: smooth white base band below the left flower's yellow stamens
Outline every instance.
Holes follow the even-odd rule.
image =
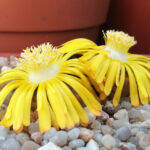
[[[55,77],[59,70],[60,66],[58,64],[51,64],[47,69],[29,73],[29,80],[34,83],[40,83]]]

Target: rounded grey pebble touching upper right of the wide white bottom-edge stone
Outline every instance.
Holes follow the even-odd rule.
[[[51,142],[58,146],[65,146],[68,141],[68,134],[65,131],[58,131],[55,136],[50,138]]]

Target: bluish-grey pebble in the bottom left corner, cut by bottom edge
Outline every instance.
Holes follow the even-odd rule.
[[[8,138],[1,145],[2,150],[20,150],[20,144],[14,138]]]

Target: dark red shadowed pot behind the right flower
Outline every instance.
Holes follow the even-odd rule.
[[[108,24],[135,36],[137,45],[132,52],[150,54],[150,1],[111,1]]]

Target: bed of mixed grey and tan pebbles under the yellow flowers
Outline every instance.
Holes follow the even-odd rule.
[[[1,72],[16,66],[15,57],[0,57]],[[132,107],[130,98],[122,98],[117,107],[110,101],[103,105],[101,117],[87,108],[88,127],[79,124],[73,129],[51,128],[41,134],[38,121],[27,131],[16,134],[0,126],[0,150],[150,150],[150,105]],[[7,100],[0,109],[0,118],[7,109]]]

